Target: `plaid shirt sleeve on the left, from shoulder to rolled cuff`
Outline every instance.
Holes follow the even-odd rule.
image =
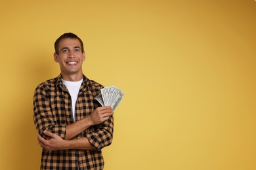
[[[45,88],[37,87],[35,89],[33,97],[33,121],[37,132],[45,139],[49,139],[43,131],[51,131],[51,133],[56,133],[62,139],[66,135],[66,125],[56,124],[55,116],[51,109],[51,103],[49,95]]]

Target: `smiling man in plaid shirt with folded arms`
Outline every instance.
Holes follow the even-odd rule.
[[[33,99],[41,169],[103,169],[101,149],[112,143],[112,108],[100,107],[95,97],[103,86],[83,75],[81,39],[64,33],[54,48],[60,75],[37,86]]]

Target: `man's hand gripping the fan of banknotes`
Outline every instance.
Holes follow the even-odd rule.
[[[89,116],[89,120],[93,125],[101,124],[105,120],[108,120],[110,118],[110,115],[112,113],[111,107],[98,107],[93,112],[91,112]]]

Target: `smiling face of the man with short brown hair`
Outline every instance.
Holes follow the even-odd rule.
[[[60,64],[60,71],[64,76],[82,73],[85,52],[81,51],[79,40],[62,39],[58,44],[58,54],[54,53],[54,61]]]

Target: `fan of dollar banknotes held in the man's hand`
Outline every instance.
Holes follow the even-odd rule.
[[[115,86],[109,86],[100,89],[100,93],[95,97],[95,99],[102,106],[112,107],[112,112],[114,112],[124,95],[125,94],[121,89],[116,88]]]

